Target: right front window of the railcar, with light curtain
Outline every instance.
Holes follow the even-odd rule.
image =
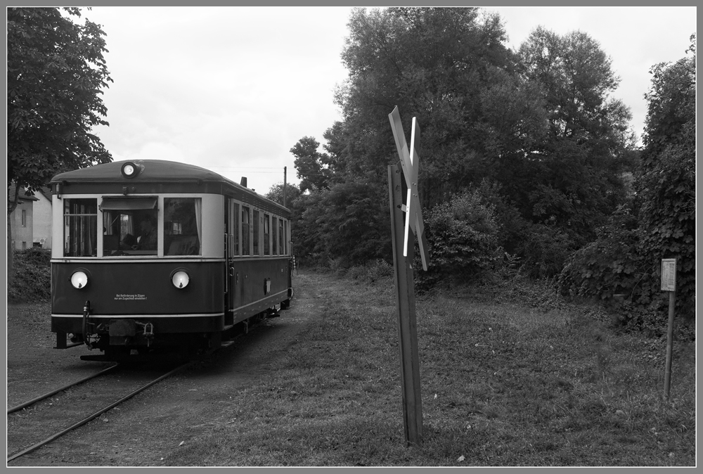
[[[200,198],[164,198],[164,255],[200,255]]]

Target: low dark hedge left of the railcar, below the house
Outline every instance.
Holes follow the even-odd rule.
[[[14,250],[16,275],[8,284],[10,302],[34,302],[51,298],[51,250]]]

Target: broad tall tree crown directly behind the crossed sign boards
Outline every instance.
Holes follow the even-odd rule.
[[[500,18],[478,8],[355,8],[342,51],[349,78],[335,98],[347,172],[373,172],[385,185],[387,165],[398,160],[387,116],[398,105],[422,125],[425,205],[480,179],[482,136],[473,124],[491,72],[510,63],[503,41]]]

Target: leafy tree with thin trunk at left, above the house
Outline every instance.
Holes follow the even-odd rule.
[[[63,11],[81,16],[79,8]],[[112,160],[91,132],[108,125],[100,98],[112,82],[104,36],[99,25],[77,25],[59,8],[8,8],[8,186],[36,191],[54,174]],[[15,194],[8,204],[8,262],[16,205]]]

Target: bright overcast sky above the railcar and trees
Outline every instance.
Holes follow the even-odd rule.
[[[614,97],[642,133],[652,65],[685,56],[695,7],[488,7],[505,21],[508,47],[543,25],[587,32],[621,77]],[[110,127],[97,134],[118,160],[191,163],[265,194],[297,183],[290,148],[323,143],[340,120],[334,90],[346,7],[94,7],[84,18],[106,33],[115,81],[105,90]],[[390,110],[389,110],[390,112]],[[401,110],[402,114],[402,110]],[[409,118],[409,117],[408,117]]]

